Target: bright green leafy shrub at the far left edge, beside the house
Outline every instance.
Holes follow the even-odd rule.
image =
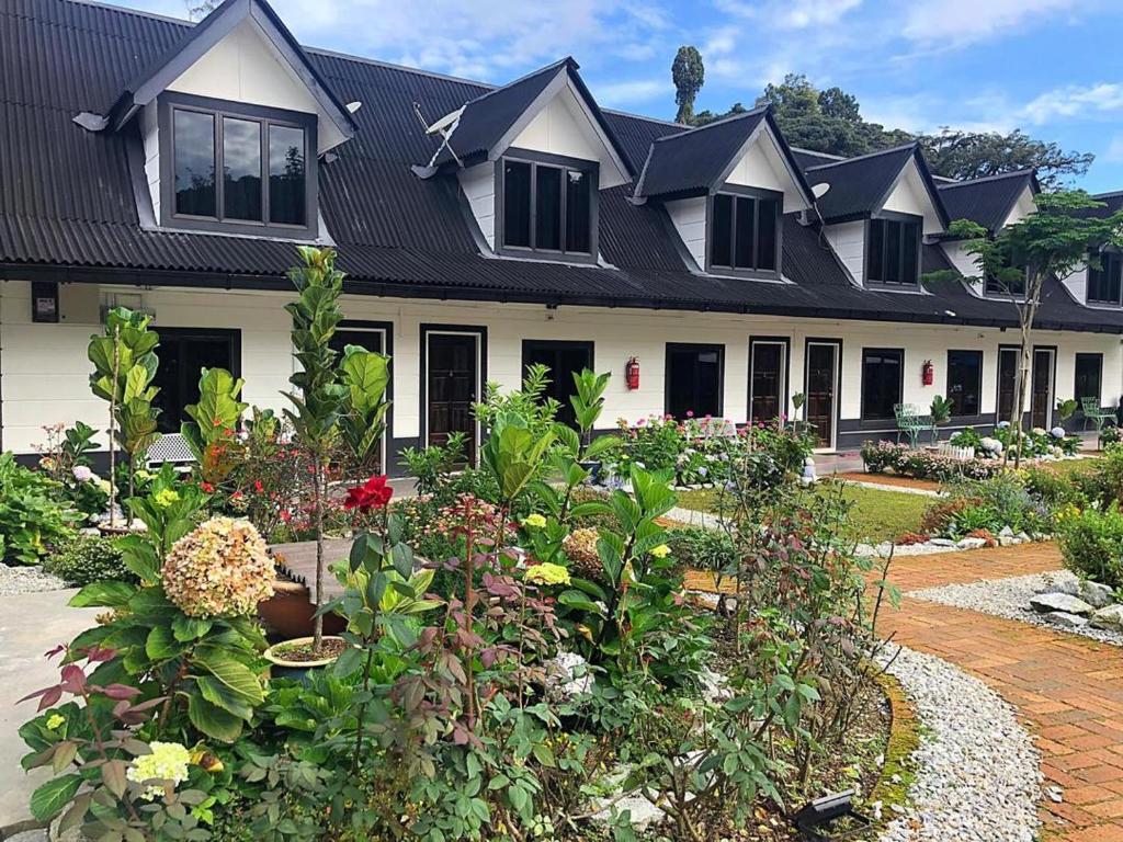
[[[73,537],[81,520],[60,483],[0,454],[0,561],[39,562]]]

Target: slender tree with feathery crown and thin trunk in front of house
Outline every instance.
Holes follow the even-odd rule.
[[[1017,312],[1020,366],[1014,378],[1010,418],[1014,429],[1015,466],[1021,460],[1022,403],[1030,375],[1033,323],[1041,306],[1044,282],[1050,277],[1068,277],[1086,265],[1097,267],[1098,258],[1089,256],[1089,247],[1123,245],[1123,211],[1110,216],[1097,213],[1105,207],[1083,190],[1058,191],[1040,194],[1033,213],[994,237],[988,237],[982,226],[966,219],[956,220],[949,228],[953,237],[966,240],[965,249],[978,267],[978,275],[969,281],[982,284],[983,278],[993,278],[1010,295]],[[924,277],[928,282],[948,274],[939,272]]]

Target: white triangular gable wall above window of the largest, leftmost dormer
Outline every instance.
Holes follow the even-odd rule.
[[[252,19],[238,24],[167,90],[318,115],[320,153],[346,139]]]

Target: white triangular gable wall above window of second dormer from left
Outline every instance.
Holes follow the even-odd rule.
[[[453,135],[456,141],[456,135]],[[565,155],[601,164],[601,190],[617,187],[628,182],[621,173],[585,109],[584,103],[568,82],[547,102],[520,131],[511,146],[550,155]]]

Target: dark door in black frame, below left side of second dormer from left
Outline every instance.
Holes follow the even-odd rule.
[[[474,335],[428,335],[428,443],[444,445],[449,433],[466,433],[465,452],[469,463],[476,457],[476,420],[472,404],[480,384],[477,342]]]

